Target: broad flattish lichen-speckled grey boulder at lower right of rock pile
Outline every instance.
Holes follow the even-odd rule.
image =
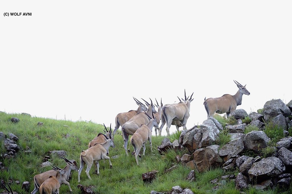
[[[263,158],[259,162],[253,163],[248,175],[252,179],[278,176],[286,170],[283,162],[276,157]]]

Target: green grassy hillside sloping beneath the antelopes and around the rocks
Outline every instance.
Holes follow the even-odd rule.
[[[11,123],[11,117],[20,119],[19,123]],[[37,126],[38,122],[43,122],[43,126]],[[107,123],[108,124],[108,123]],[[64,127],[68,125],[69,127]],[[9,167],[8,172],[2,171],[0,179],[8,181],[19,180],[29,181],[31,183],[30,192],[33,190],[33,176],[50,170],[50,167],[41,168],[45,155],[48,155],[52,150],[65,150],[68,153],[68,159],[74,159],[79,166],[79,156],[82,150],[88,146],[88,142],[93,139],[98,132],[103,130],[102,125],[91,122],[71,122],[65,120],[54,120],[47,118],[31,118],[29,116],[19,114],[0,113],[0,131],[7,134],[11,132],[19,137],[18,145],[21,150],[17,156],[12,159],[0,159],[6,167]],[[65,138],[66,134],[70,137]],[[174,136],[174,135],[173,135]],[[108,161],[100,162],[100,176],[93,174],[92,167],[90,175],[93,179],[90,181],[86,176],[85,169],[81,173],[81,184],[84,186],[94,185],[96,193],[150,193],[151,190],[169,191],[172,186],[180,185],[183,188],[190,188],[194,193],[239,193],[235,189],[233,181],[223,182],[223,186],[218,190],[212,190],[215,186],[210,183],[210,180],[220,178],[220,176],[237,172],[224,172],[222,169],[213,169],[204,173],[196,173],[197,180],[195,182],[186,181],[185,178],[190,172],[187,167],[178,164],[178,167],[171,172],[164,173],[164,170],[176,163],[175,156],[183,155],[184,153],[170,151],[165,156],[159,155],[157,146],[160,145],[164,137],[152,137],[153,153],[150,152],[149,143],[146,146],[146,156],[139,160],[140,166],[136,165],[135,158],[132,155],[126,156],[123,145],[123,139],[120,133],[116,134],[114,143],[116,148],[110,148],[109,156],[119,155],[116,159],[111,159],[113,168],[109,168]],[[173,137],[171,138],[173,139]],[[23,150],[29,146],[31,153],[24,153]],[[131,150],[133,148],[131,147]],[[3,153],[4,145],[1,142],[0,153]],[[58,167],[64,167],[64,160],[57,156],[52,156],[50,160]],[[157,178],[150,184],[145,184],[142,181],[141,175],[144,172],[158,170]],[[77,172],[73,172],[72,180],[69,181],[73,193],[80,193],[77,188]],[[17,185],[13,182],[12,188],[19,194],[27,193],[21,189],[21,184]],[[2,190],[0,189],[0,192]],[[62,185],[60,193],[70,193],[66,185]],[[259,192],[249,190],[248,193],[276,193],[276,191],[268,190]]]

